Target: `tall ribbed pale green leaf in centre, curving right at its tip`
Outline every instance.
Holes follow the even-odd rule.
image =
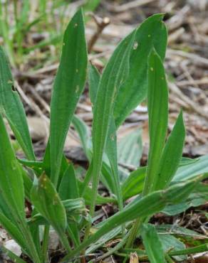
[[[108,137],[110,119],[113,114],[114,100],[120,85],[129,72],[129,55],[135,31],[125,38],[114,51],[100,79],[95,100],[93,117],[93,196],[91,210],[95,203],[103,153]]]

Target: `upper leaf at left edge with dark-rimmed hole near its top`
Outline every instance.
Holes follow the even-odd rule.
[[[31,136],[28,130],[26,114],[18,93],[14,90],[14,80],[9,68],[9,62],[0,47],[0,108],[4,111],[11,129],[24,150],[27,158],[35,159]]]

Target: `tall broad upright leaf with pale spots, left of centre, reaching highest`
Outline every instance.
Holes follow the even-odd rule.
[[[63,36],[61,63],[51,98],[51,181],[58,183],[63,146],[68,128],[85,85],[88,67],[83,14],[79,10]]]

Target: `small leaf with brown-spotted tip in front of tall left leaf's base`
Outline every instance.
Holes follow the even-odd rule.
[[[31,201],[38,213],[53,226],[63,246],[70,252],[71,248],[65,234],[67,227],[66,210],[56,188],[45,173],[34,181],[31,189]]]

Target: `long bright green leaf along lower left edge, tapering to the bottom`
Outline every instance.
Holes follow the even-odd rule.
[[[9,211],[12,215],[10,218],[11,222],[14,222],[25,239],[25,250],[28,252],[31,259],[40,263],[40,256],[36,251],[31,233],[26,225],[24,209],[24,182],[22,178],[23,174],[21,166],[19,161],[16,159],[14,150],[12,149],[1,114],[0,131],[0,204],[4,204],[4,207],[1,209],[5,211],[5,205],[7,205],[7,211]]]

